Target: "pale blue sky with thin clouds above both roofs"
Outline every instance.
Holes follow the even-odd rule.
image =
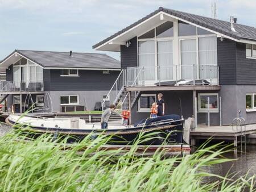
[[[0,0],[0,60],[14,49],[107,53],[92,45],[160,6],[211,16],[213,0]],[[256,27],[256,0],[216,0],[217,16]]]

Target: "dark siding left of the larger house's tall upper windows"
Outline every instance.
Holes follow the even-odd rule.
[[[121,45],[121,68],[137,66],[137,37],[130,40],[130,47]]]

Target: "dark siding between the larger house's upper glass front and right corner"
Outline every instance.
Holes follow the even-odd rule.
[[[217,40],[217,57],[220,66],[220,85],[236,84],[236,42]]]

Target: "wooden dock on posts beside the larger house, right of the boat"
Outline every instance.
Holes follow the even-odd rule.
[[[234,147],[237,147],[241,136],[249,136],[252,133],[256,133],[256,124],[247,124],[246,128],[241,128],[234,126],[198,126],[197,128],[190,131],[191,144],[195,145],[196,140],[199,139],[210,139],[212,140],[223,140],[223,141],[233,141]]]

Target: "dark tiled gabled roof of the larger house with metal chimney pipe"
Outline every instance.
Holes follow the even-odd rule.
[[[241,40],[241,39],[247,39],[247,40],[253,40],[256,41],[256,29],[254,27],[250,26],[245,26],[243,24],[237,24],[234,23],[234,28],[236,29],[237,32],[234,32],[231,30],[230,27],[230,22],[226,22],[224,20],[219,20],[219,19],[213,19],[213,18],[208,18],[206,16],[200,16],[200,15],[195,15],[195,14],[189,14],[187,12],[182,12],[182,11],[176,11],[176,10],[171,10],[171,9],[166,9],[163,7],[159,7],[158,10],[151,12],[151,14],[145,16],[142,19],[139,19],[137,22],[131,24],[130,26],[124,28],[121,31],[118,31],[114,35],[100,41],[99,43],[93,45],[93,49],[97,49],[99,46],[102,44],[113,40],[115,37],[118,37],[119,35],[133,29],[134,27],[138,26],[139,24],[145,22],[146,20],[152,18],[159,12],[166,13],[168,15],[174,16],[177,19],[183,19],[186,20],[187,22],[191,22],[193,24],[196,24],[197,26],[201,26],[204,28],[207,28],[209,30],[215,31],[219,34],[228,36],[234,40]],[[129,40],[129,39],[128,39]]]

